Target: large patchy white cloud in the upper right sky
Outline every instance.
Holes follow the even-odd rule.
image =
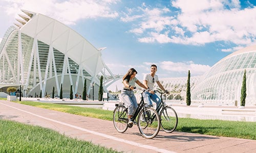
[[[125,14],[126,21],[133,18],[130,32],[139,34],[138,41],[193,45],[224,41],[238,46],[255,42],[255,6],[241,9],[239,0],[176,0],[170,4],[179,11],[143,4]]]

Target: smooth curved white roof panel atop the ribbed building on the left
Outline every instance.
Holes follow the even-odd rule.
[[[103,69],[100,51],[77,32],[51,17],[22,11],[31,19],[23,23],[20,32],[52,45],[92,76],[96,76]]]

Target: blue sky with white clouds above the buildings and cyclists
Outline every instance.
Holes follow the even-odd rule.
[[[102,50],[114,74],[130,68],[159,78],[203,75],[219,60],[256,44],[256,1],[0,0],[0,41],[21,9],[52,17]],[[109,90],[121,88],[121,80]]]

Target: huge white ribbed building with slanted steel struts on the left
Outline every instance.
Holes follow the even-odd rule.
[[[26,15],[16,19],[20,24],[10,27],[0,45],[0,88],[23,86],[25,96],[42,91],[63,96],[82,94],[84,80],[87,93],[95,84],[98,97],[99,78],[103,75],[103,89],[120,78],[104,64],[101,50],[95,48],[77,32],[48,16],[22,10]],[[65,95],[66,94],[66,95]]]

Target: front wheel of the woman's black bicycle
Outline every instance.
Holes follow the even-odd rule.
[[[153,108],[146,108],[138,116],[139,131],[147,139],[154,138],[160,130],[160,118]]]

